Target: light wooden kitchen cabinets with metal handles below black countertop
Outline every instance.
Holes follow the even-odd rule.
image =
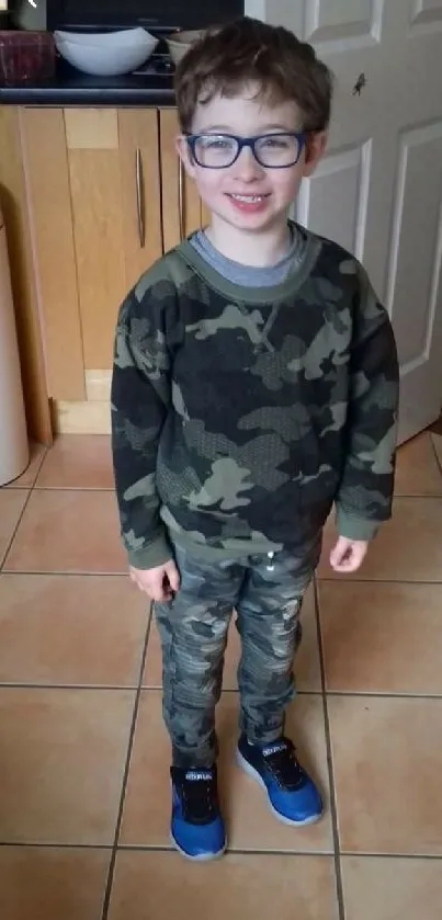
[[[177,111],[0,106],[0,127],[30,430],[109,431],[117,308],[206,222]]]

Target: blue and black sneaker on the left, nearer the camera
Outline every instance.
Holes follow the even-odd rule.
[[[208,770],[172,766],[170,775],[173,844],[188,860],[216,860],[226,849],[216,766]]]

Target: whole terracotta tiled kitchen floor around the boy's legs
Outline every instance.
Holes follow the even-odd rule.
[[[441,464],[442,436],[403,448],[363,571],[337,579],[325,558],[309,592],[288,730],[325,793],[314,828],[277,824],[233,763],[233,633],[230,850],[194,866],[169,848],[158,636],[125,576],[109,440],[35,452],[0,490],[2,920],[439,920]]]

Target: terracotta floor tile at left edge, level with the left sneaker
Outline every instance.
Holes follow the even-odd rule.
[[[134,698],[0,689],[0,841],[113,842]]]

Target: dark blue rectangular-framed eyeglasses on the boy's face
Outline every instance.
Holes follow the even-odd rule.
[[[275,132],[254,137],[235,134],[184,135],[194,161],[206,169],[226,169],[238,159],[243,147],[250,147],[254,159],[267,169],[286,169],[297,163],[305,145],[305,134]]]

